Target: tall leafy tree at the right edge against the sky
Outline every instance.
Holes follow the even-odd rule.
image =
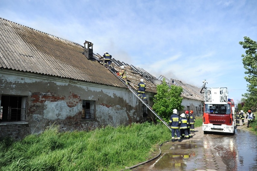
[[[246,49],[246,55],[243,57],[243,65],[246,69],[245,80],[249,83],[247,84],[247,92],[242,94],[243,97],[246,97],[245,106],[252,109],[257,108],[257,42],[251,40],[249,37],[244,37],[243,42],[239,42],[240,45]]]

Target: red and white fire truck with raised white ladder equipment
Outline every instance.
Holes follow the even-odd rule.
[[[201,93],[204,93],[205,97],[202,125],[204,133],[234,134],[234,104],[233,100],[228,99],[227,87],[207,88],[204,80]]]

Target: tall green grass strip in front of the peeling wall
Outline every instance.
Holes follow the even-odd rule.
[[[120,170],[150,156],[170,139],[163,124],[107,126],[59,133],[58,126],[21,141],[0,141],[0,170]]]

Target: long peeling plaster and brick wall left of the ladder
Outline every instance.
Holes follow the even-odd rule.
[[[53,123],[61,131],[87,131],[143,121],[141,102],[125,88],[7,69],[0,76],[0,96],[27,97],[24,121],[30,133]],[[81,119],[82,100],[95,101],[94,119]]]

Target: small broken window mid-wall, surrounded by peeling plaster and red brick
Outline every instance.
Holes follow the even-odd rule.
[[[95,101],[82,100],[82,119],[94,119]]]

